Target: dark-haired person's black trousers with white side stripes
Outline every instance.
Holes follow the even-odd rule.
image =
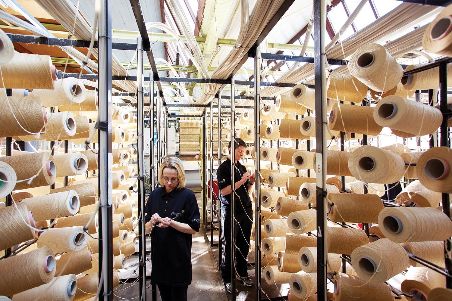
[[[235,268],[240,277],[248,276],[248,251],[250,250],[251,227],[253,225],[253,212],[235,215]],[[221,265],[220,276],[223,280],[231,282],[231,213],[221,211]]]

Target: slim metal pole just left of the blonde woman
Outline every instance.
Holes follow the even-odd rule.
[[[143,99],[143,42],[137,41],[137,127],[138,127],[138,261],[140,264],[139,293],[140,300],[146,299],[146,232],[144,217],[144,99]]]

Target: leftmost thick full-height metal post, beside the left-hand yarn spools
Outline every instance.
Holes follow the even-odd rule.
[[[99,282],[100,300],[113,301],[112,231],[112,124],[108,107],[112,90],[112,39],[110,3],[103,0],[99,13]],[[104,260],[105,259],[105,260]],[[100,278],[102,274],[103,279]]]

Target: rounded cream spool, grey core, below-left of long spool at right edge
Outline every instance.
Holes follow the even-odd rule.
[[[387,238],[356,248],[351,258],[355,272],[371,284],[381,284],[410,265],[406,251]]]

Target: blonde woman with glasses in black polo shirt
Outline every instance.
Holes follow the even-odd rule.
[[[185,187],[182,162],[163,160],[159,168],[161,187],[147,199],[146,233],[151,234],[151,284],[159,287],[162,301],[187,300],[192,282],[192,236],[199,231],[199,208],[195,194]]]

